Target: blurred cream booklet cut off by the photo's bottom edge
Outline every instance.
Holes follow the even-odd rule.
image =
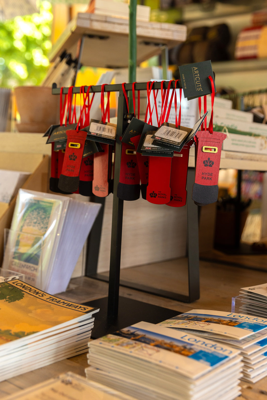
[[[73,372],[66,372],[5,397],[5,400],[135,400],[104,385],[88,381]]]

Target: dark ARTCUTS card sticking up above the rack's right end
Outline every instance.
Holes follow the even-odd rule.
[[[211,81],[209,80],[209,76],[213,78],[216,92],[211,60],[179,66],[179,72],[184,96],[188,100],[211,94]]]

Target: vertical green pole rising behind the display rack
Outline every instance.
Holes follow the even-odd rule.
[[[128,82],[136,80],[137,63],[137,38],[136,38],[136,9],[137,0],[130,0],[129,4],[129,63],[128,63]],[[132,93],[129,92],[129,111],[133,112]]]

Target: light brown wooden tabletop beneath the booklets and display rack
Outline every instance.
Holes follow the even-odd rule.
[[[176,263],[177,260],[169,260],[167,262],[148,266],[126,268],[121,271],[122,277],[124,278],[124,274],[127,274],[127,278],[129,279],[129,274],[132,273],[132,276],[135,276],[139,269],[141,269],[141,273],[144,274],[149,272],[144,270],[144,268],[150,268],[154,270],[154,279],[156,279],[157,276],[161,277],[161,275],[157,274],[157,268],[161,266],[165,268],[167,272],[170,272]],[[175,300],[154,296],[149,293],[125,287],[120,287],[120,295],[171,308],[173,310],[179,310],[180,312],[188,312],[192,308],[229,310],[229,307],[231,309],[231,296],[233,296],[233,294],[238,294],[240,287],[245,287],[248,285],[248,282],[254,282],[255,280],[262,282],[266,275],[266,273],[262,271],[242,270],[237,267],[223,266],[210,262],[201,261],[200,264],[202,294],[201,298],[192,304],[177,302]],[[214,274],[215,268],[216,274]],[[181,280],[180,284],[186,286],[187,268],[179,269],[179,279]],[[171,284],[177,286],[177,280],[174,280],[174,283],[172,281]],[[59,297],[80,303],[106,296],[107,291],[108,284],[106,282],[80,277],[72,279],[68,291],[61,293]],[[43,382],[44,380],[54,378],[63,372],[72,371],[85,376],[84,369],[87,366],[87,357],[86,353],[84,353],[69,358],[68,360],[62,360],[43,368],[27,372],[26,374],[20,375],[18,371],[18,376],[0,382],[0,399],[2,400],[8,394],[13,394],[21,389]],[[248,384],[241,381],[240,385],[242,388],[242,395],[236,400],[267,400],[267,377],[255,384]]]

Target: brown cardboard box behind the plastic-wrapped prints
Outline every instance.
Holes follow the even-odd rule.
[[[23,189],[48,192],[48,172],[50,165],[48,155],[15,152],[1,152],[0,154],[0,169],[31,172],[22,186]],[[2,265],[4,255],[4,228],[10,228],[15,203],[16,196],[12,199],[9,206],[5,205],[2,210],[0,208],[0,265]]]

